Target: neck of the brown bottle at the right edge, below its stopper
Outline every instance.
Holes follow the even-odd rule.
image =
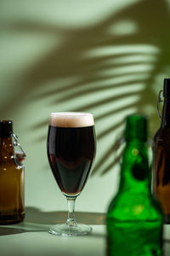
[[[164,98],[162,117],[161,117],[161,128],[170,128],[170,97]]]

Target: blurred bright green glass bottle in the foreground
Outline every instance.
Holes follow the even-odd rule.
[[[107,255],[162,255],[162,214],[150,192],[144,116],[127,117],[125,140],[120,186],[107,212]]]

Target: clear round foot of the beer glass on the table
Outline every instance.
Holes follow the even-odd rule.
[[[48,233],[55,236],[84,236],[92,232],[92,227],[86,224],[69,226],[68,224],[56,224],[49,228]]]

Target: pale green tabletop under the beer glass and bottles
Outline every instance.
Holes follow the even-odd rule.
[[[102,219],[102,214],[99,213],[99,216],[98,221]],[[91,219],[93,218],[94,216]],[[105,224],[92,224],[91,235],[76,237],[50,235],[47,231],[48,226],[49,224],[27,221],[0,226],[1,255],[105,256]],[[170,255],[170,225],[164,225],[164,251],[164,256]]]

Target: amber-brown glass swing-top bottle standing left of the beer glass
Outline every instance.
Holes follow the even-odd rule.
[[[0,224],[25,218],[24,166],[15,158],[11,120],[0,120]]]

